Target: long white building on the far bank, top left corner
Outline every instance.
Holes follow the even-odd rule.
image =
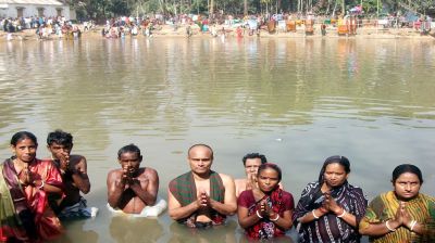
[[[0,18],[32,16],[71,20],[70,5],[57,0],[0,0]]]

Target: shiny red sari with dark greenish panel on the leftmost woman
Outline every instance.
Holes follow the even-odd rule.
[[[23,187],[12,159],[0,165],[1,240],[40,242],[63,232],[62,226],[48,205],[47,193],[34,186]],[[29,170],[36,180],[62,188],[62,179],[50,161],[35,159]]]

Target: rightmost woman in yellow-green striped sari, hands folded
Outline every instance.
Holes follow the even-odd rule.
[[[360,223],[371,242],[435,242],[435,200],[420,193],[423,176],[410,164],[393,171],[394,190],[376,196]]]

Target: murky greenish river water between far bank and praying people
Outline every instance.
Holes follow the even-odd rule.
[[[395,166],[423,170],[435,192],[435,41],[418,39],[89,39],[0,46],[0,155],[20,130],[39,139],[62,128],[88,159],[97,218],[66,222],[59,242],[239,242],[228,226],[190,231],[167,213],[112,217],[105,176],[117,150],[137,144],[158,170],[161,197],[188,170],[194,143],[214,149],[216,171],[244,176],[241,157],[278,164],[298,200],[335,154],[368,197],[390,190]]]

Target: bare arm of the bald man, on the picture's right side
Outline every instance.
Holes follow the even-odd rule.
[[[225,199],[224,203],[220,203],[210,199],[210,206],[214,210],[223,215],[234,215],[237,210],[237,200],[234,180],[232,177],[220,174],[222,183],[225,188]]]

